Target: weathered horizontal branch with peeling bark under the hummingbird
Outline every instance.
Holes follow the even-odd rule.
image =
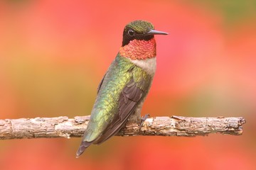
[[[38,137],[81,137],[90,116],[77,116],[74,119],[61,116],[57,118],[21,118],[0,120],[0,140],[38,138]],[[162,135],[194,137],[209,133],[242,135],[244,118],[189,118],[181,116],[147,118],[139,126],[128,123],[118,136]]]

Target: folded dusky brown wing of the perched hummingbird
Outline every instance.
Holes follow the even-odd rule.
[[[122,93],[119,96],[119,113],[114,115],[112,123],[107,126],[106,130],[102,132],[96,144],[100,144],[105,140],[109,139],[115,135],[127,122],[129,115],[134,113],[139,101],[141,101],[142,96],[144,96],[145,91],[139,88],[138,84],[143,84],[142,82],[135,82],[134,79],[131,79],[129,83],[124,87]]]

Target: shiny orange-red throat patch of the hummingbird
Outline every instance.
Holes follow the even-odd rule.
[[[156,41],[151,40],[131,40],[128,45],[120,47],[119,55],[131,60],[145,60],[156,57]]]

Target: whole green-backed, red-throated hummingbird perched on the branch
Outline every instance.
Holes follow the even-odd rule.
[[[76,153],[79,157],[92,144],[101,144],[129,122],[141,123],[141,110],[156,72],[154,30],[147,21],[132,21],[124,27],[122,47],[97,88],[87,129]]]

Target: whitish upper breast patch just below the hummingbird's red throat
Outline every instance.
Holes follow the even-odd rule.
[[[151,76],[154,76],[156,72],[156,57],[148,58],[145,60],[131,60],[130,61],[137,66],[141,67]]]

